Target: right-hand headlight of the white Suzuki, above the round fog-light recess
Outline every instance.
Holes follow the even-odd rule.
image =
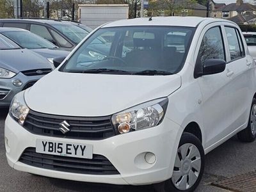
[[[145,102],[112,116],[111,120],[121,134],[159,125],[164,117],[168,98]]]

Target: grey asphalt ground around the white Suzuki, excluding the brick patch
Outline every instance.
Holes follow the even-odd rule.
[[[152,186],[113,186],[51,179],[12,170],[6,162],[4,149],[4,118],[0,109],[0,191],[86,191],[86,192],[153,192]],[[207,154],[205,175],[196,192],[227,192],[211,186],[215,180],[256,170],[256,141],[240,143],[236,137]],[[256,189],[255,189],[256,191]],[[246,192],[246,191],[244,191]]]

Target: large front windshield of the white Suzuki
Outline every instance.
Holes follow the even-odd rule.
[[[93,33],[60,70],[170,75],[186,60],[195,28],[131,26]]]

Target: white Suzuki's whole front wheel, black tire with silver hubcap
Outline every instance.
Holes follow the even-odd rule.
[[[183,151],[183,153],[181,152]],[[192,153],[191,153],[192,152]],[[177,159],[178,158],[178,159]],[[204,173],[204,148],[201,142],[188,132],[182,134],[172,178],[155,184],[157,192],[191,192],[196,189]],[[189,180],[193,177],[193,179]],[[183,184],[182,184],[183,180]],[[189,182],[191,186],[189,186]]]

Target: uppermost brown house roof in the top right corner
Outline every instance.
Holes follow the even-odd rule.
[[[214,12],[244,12],[244,11],[256,11],[256,6],[250,3],[242,3],[241,5],[237,5],[236,3],[230,3],[225,6],[220,6]]]

